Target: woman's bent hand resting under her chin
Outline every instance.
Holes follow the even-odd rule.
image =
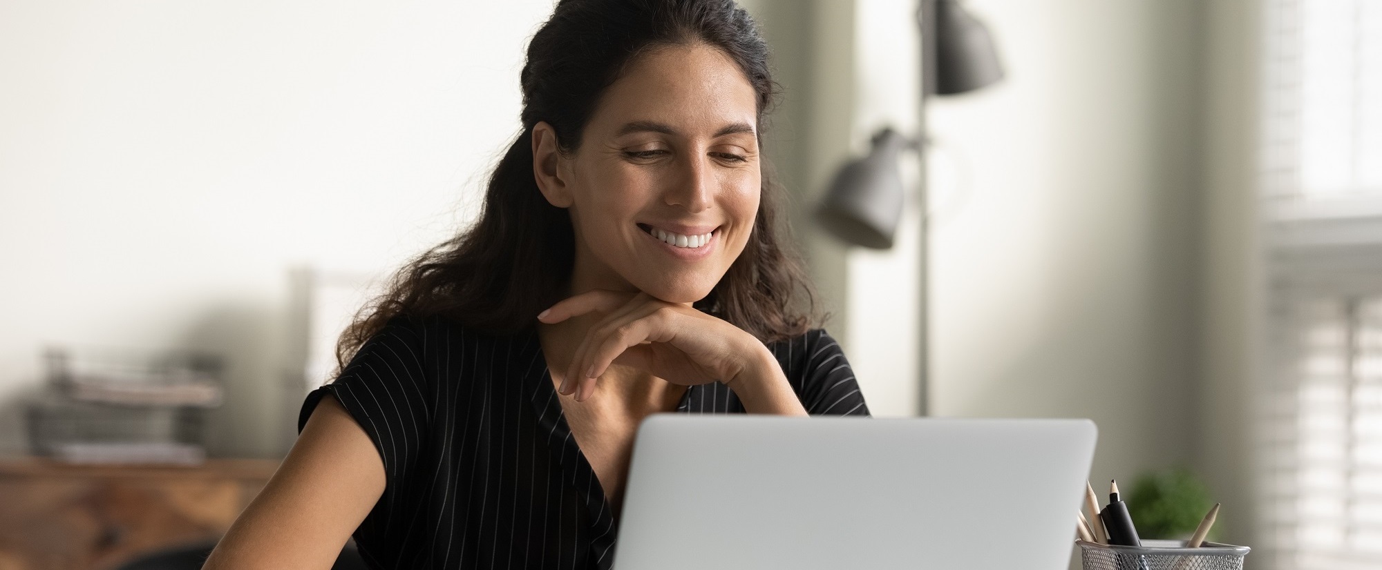
[[[553,305],[538,320],[554,324],[591,312],[605,317],[590,327],[558,388],[562,395],[575,393],[576,402],[594,392],[597,380],[614,363],[647,370],[673,384],[720,381],[731,388],[750,375],[746,371],[761,367],[763,355],[777,367],[767,346],[752,334],[645,293],[586,291]],[[782,375],[781,370],[777,375]]]

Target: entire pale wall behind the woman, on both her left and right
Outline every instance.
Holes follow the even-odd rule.
[[[873,128],[915,128],[915,4],[746,4],[831,328],[873,411],[912,414],[916,208],[882,255],[800,214]],[[1009,77],[933,99],[933,410],[1093,417],[1096,478],[1187,461],[1197,3],[966,6]],[[213,451],[272,454],[287,268],[388,268],[468,219],[550,7],[0,4],[0,453],[39,349],[83,342],[225,352]]]

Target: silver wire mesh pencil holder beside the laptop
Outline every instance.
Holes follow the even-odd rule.
[[[1113,547],[1075,541],[1085,570],[1242,570],[1251,548],[1205,542],[1186,548],[1186,541],[1144,540],[1142,547]]]

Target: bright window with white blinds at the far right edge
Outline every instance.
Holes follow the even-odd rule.
[[[1277,570],[1382,569],[1382,0],[1267,0],[1262,509]]]

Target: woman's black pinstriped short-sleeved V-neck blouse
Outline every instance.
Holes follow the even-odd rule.
[[[868,415],[824,330],[768,345],[811,414]],[[384,495],[355,530],[377,569],[609,569],[618,522],[571,436],[536,328],[514,337],[441,317],[394,319],[332,384],[379,447]],[[681,413],[744,413],[723,384],[691,386]]]

